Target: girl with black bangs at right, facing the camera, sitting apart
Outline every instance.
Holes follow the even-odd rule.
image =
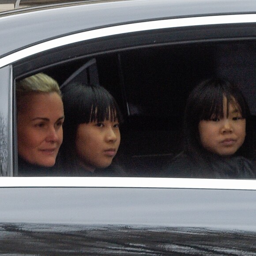
[[[188,97],[184,151],[165,177],[255,178],[250,111],[241,91],[228,81],[209,79]]]

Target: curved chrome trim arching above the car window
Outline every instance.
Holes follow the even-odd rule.
[[[202,25],[221,25],[221,24],[235,24],[235,23],[255,23],[256,14],[235,14],[235,15],[215,15],[215,16],[202,16],[202,17],[190,17],[190,18],[176,18],[165,19],[148,22],[139,22],[118,26],[109,26],[100,29],[89,30],[72,34],[53,40],[45,41],[37,45],[30,46],[26,49],[22,49],[18,52],[12,53],[8,56],[4,56],[0,59],[0,68],[15,61],[21,60],[25,57],[32,56],[36,53],[40,53],[56,47],[86,41],[95,38],[102,38],[107,36],[113,36],[117,34],[126,34],[139,31],[148,31],[155,29],[188,27],[188,26],[202,26]]]

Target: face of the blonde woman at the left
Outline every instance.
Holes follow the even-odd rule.
[[[18,153],[27,162],[50,167],[62,143],[63,103],[53,93],[25,96],[18,110]]]

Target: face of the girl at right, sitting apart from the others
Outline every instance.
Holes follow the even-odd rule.
[[[228,117],[227,100],[223,99],[223,118],[212,116],[210,120],[199,122],[200,142],[207,151],[220,156],[229,156],[245,141],[245,119],[235,103],[230,103]]]

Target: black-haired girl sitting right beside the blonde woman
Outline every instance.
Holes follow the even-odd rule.
[[[120,110],[101,86],[62,88],[65,122],[58,168],[65,176],[122,176],[112,160],[120,144]]]

